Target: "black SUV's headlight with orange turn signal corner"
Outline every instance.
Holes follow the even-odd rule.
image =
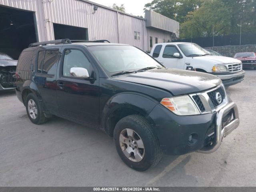
[[[196,104],[190,96],[178,96],[163,98],[160,102],[163,106],[174,112],[176,115],[197,115],[200,114]]]

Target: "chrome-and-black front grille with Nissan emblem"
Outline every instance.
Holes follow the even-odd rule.
[[[228,99],[223,85],[218,88],[190,95],[201,113],[213,112],[218,107],[227,104]]]

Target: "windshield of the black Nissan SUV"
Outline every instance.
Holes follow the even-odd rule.
[[[147,53],[126,45],[88,46],[108,74],[135,71],[142,68],[164,68]]]

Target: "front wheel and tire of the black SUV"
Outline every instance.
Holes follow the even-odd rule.
[[[132,135],[132,131],[134,139],[128,136]],[[123,142],[120,142],[120,138]],[[123,162],[137,171],[152,168],[162,158],[157,136],[145,118],[139,115],[129,115],[117,122],[114,128],[114,144]],[[144,149],[141,148],[142,146]],[[126,155],[123,151],[126,152]],[[138,155],[138,153],[140,154]],[[128,158],[128,156],[130,157]]]

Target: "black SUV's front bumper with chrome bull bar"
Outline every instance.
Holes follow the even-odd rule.
[[[226,118],[231,110],[234,111],[234,119],[222,128],[222,119]],[[194,151],[212,153],[218,149],[223,137],[239,125],[238,109],[233,102],[217,112],[194,116],[177,116],[158,104],[148,119],[158,136],[162,151],[169,155],[182,155]],[[190,135],[196,135],[196,140],[192,144],[189,142]]]

